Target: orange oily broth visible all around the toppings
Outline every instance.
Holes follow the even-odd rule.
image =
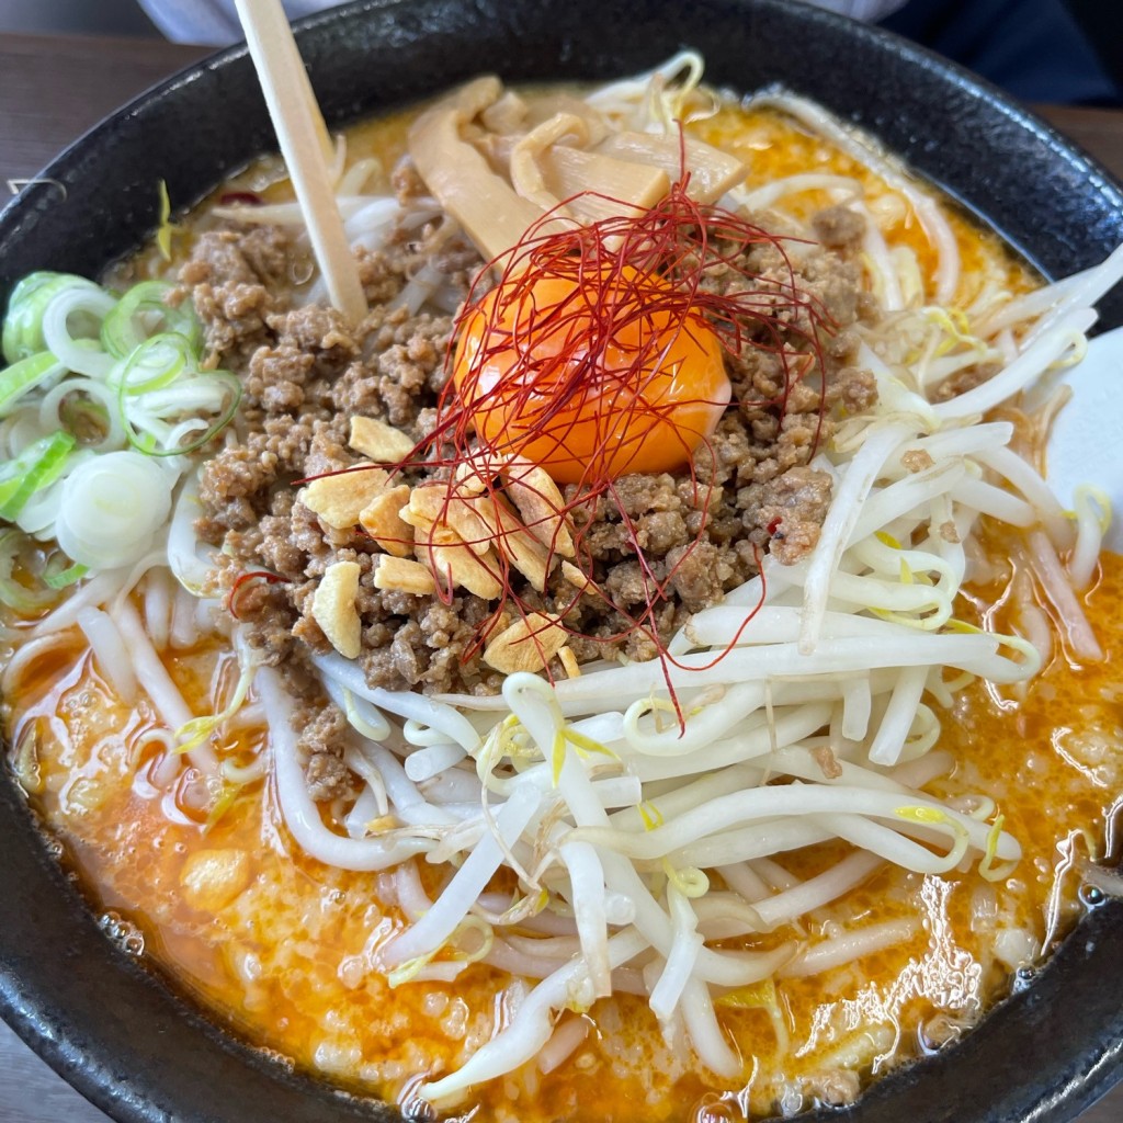
[[[359,126],[350,135],[350,156],[378,154],[389,171],[404,148],[409,116]],[[747,158],[750,185],[818,167],[861,179],[877,208],[879,188],[873,179],[779,115],[725,109],[694,128]],[[266,159],[222,191],[255,190],[280,201],[289,185],[276,182],[279,175],[276,161]],[[786,206],[802,217],[830,201],[810,193]],[[1028,271],[1001,250],[997,239],[958,213],[951,221],[969,277],[959,303],[969,302],[984,276],[1013,291],[1030,283]],[[203,223],[210,220],[189,222],[179,252],[186,252],[193,229]],[[922,268],[931,266],[926,241],[906,207],[898,208],[887,237],[892,245],[912,248]],[[143,257],[138,267],[167,270],[154,256]],[[999,593],[987,592],[993,599]],[[1090,604],[1110,652],[1120,647],[1121,594],[1123,563],[1108,558]],[[1107,634],[1106,628],[1114,631]],[[170,659],[168,669],[195,712],[213,710],[208,694],[219,658],[209,649]],[[1099,751],[1095,732],[1120,724],[1110,666],[1111,658],[1077,674],[1054,660],[1020,706],[1003,710],[975,686],[957,703],[955,720],[946,715],[941,747],[959,764],[955,776],[932,789],[995,794],[1006,829],[1025,848],[1013,877],[996,888],[996,909],[1004,923],[1028,925],[1039,940],[1046,934],[1054,870],[1063,866],[1057,840],[1080,829],[1102,839],[1104,809],[1119,787],[1112,763],[1092,759]],[[455,985],[389,989],[371,969],[372,951],[399,923],[396,913],[380,904],[386,875],[341,873],[300,853],[279,823],[266,783],[246,788],[204,831],[174,801],[156,797],[144,779],[138,743],[155,724],[145,703],[134,712],[115,701],[76,646],[33,670],[34,682],[28,679],[10,714],[9,732],[19,743],[37,721],[43,734],[44,791],[37,809],[69,841],[99,906],[134,921],[153,959],[239,1031],[302,1068],[396,1098],[418,1074],[463,1063],[501,1026],[509,1011],[508,980],[487,968],[469,967]],[[1088,699],[1097,700],[1095,712],[1087,709]],[[245,743],[240,752],[234,750],[239,759],[262,736],[259,730],[241,734]],[[1057,798],[1047,801],[1047,794]],[[797,876],[812,876],[840,852],[814,848],[782,860]],[[203,862],[213,874],[207,886],[198,877]],[[885,868],[797,928],[766,938],[763,946],[814,941],[839,925],[924,919],[911,940],[857,965],[778,984],[791,1038],[786,1053],[777,1050],[764,1010],[723,1008],[722,1022],[746,1060],[739,1095],[716,1093],[691,1074],[683,1050],[664,1046],[646,1006],[622,996],[590,1012],[585,1043],[554,1072],[541,1076],[531,1063],[476,1089],[473,1102],[482,1104],[484,1117],[565,1119],[578,1114],[579,1102],[581,1114],[612,1120],[634,1117],[637,1105],[652,1119],[685,1119],[700,1111],[711,1117],[737,1115],[746,1105],[766,1113],[780,1098],[789,1105],[792,1097],[846,1098],[855,1087],[846,1069],[880,1071],[907,1059],[923,1041],[939,1043],[956,1026],[976,1021],[1003,993],[1007,968],[994,960],[990,933],[971,925],[973,895],[984,884],[974,870],[941,879]],[[1061,920],[1070,923],[1079,911],[1071,874],[1062,887]],[[532,1107],[531,1093],[537,1097]]]

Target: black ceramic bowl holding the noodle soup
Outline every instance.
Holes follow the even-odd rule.
[[[483,71],[609,79],[683,45],[707,80],[783,82],[883,138],[996,226],[1048,275],[1123,240],[1123,195],[1092,161],[962,71],[892,36],[783,0],[368,0],[305,21],[304,58],[331,124]],[[0,214],[0,300],[37,268],[97,274],[175,207],[274,144],[245,51],[122,109]],[[1123,295],[1104,322],[1123,321]],[[392,1113],[290,1075],[211,1024],[119,951],[0,777],[0,1014],[122,1123],[343,1123]],[[1031,986],[964,1042],[807,1119],[1013,1123],[1075,1117],[1121,1075],[1123,903],[1088,915]]]

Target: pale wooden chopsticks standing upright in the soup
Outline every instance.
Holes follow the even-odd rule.
[[[331,303],[353,323],[366,298],[328,174],[327,128],[281,0],[236,0],[249,55]]]

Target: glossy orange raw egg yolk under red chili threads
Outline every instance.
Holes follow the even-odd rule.
[[[563,484],[681,467],[731,394],[688,296],[629,266],[500,284],[466,314],[453,378],[483,442]]]

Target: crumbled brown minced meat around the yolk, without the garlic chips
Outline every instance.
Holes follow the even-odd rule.
[[[396,186],[407,202],[418,191],[405,173]],[[579,633],[568,645],[578,661],[650,658],[659,651],[652,629],[666,641],[692,612],[754,576],[763,551],[792,563],[814,548],[831,478],[810,460],[830,435],[832,413],[868,408],[876,396],[873,381],[853,365],[848,330],[870,314],[855,264],[860,219],[832,208],[816,229],[838,253],[803,246],[789,261],[761,241],[738,263],[743,268],[707,268],[703,284],[722,292],[743,283],[746,270],[766,291],[794,279],[801,299],[778,318],[793,339],[818,341],[825,401],[811,380],[798,381],[773,350],[748,340],[729,364],[732,403],[691,471],[627,475],[611,494],[574,508],[582,560],[597,591],[576,592],[555,568],[544,592],[518,593],[528,609],[566,612],[566,627]],[[214,362],[238,371],[245,386],[236,439],[203,467],[198,528],[216,547],[227,588],[247,573],[281,578],[239,587],[234,605],[250,642],[271,661],[302,666],[310,677],[307,651],[330,650],[311,615],[317,583],[332,563],[356,562],[360,661],[372,685],[490,694],[502,676],[483,663],[481,637],[502,606],[459,588],[450,603],[376,588],[377,546],[356,531],[327,530],[293,487],[362,459],[347,444],[356,413],[381,418],[412,440],[435,423],[454,320],[410,314],[394,298],[426,259],[426,239],[436,231],[430,223],[385,249],[360,252],[371,312],[357,328],[330,309],[296,307],[287,279],[300,275],[300,252],[282,231],[222,230],[198,239],[180,295],[194,301]],[[428,259],[462,298],[481,265],[466,243],[444,234]],[[576,497],[573,486],[565,497]],[[665,595],[637,629],[652,582]],[[322,798],[343,794],[348,783],[332,731],[311,719],[302,731],[309,783]]]

